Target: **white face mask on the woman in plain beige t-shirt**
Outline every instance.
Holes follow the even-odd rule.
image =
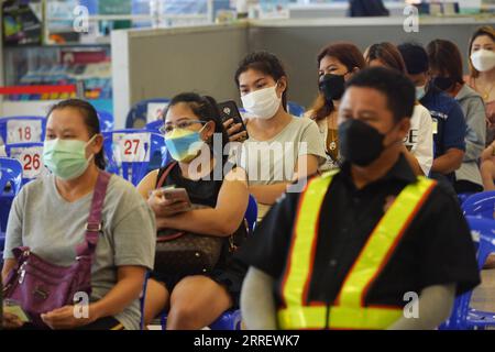
[[[272,119],[280,108],[282,98],[277,96],[277,86],[255,90],[241,97],[242,106],[250,118]]]

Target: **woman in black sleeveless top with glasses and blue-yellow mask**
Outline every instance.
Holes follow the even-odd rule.
[[[239,307],[245,267],[233,258],[229,237],[243,224],[249,190],[245,172],[211,152],[213,133],[222,136],[222,152],[229,142],[219,117],[212,98],[196,94],[175,97],[163,128],[174,162],[151,172],[138,186],[155,212],[158,230],[175,229],[223,239],[220,258],[211,272],[172,277],[155,267],[146,290],[146,324],[167,309],[167,329],[201,329],[226,310]],[[184,211],[180,205],[164,200],[160,189],[154,191],[158,186],[185,188],[194,205],[207,208]]]

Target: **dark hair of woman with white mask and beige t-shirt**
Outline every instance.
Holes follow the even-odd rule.
[[[254,52],[248,54],[239,64],[239,67],[235,72],[235,84],[239,88],[239,76],[245,73],[249,69],[257,70],[266,76],[272,77],[275,81],[278,81],[282,77],[287,79],[287,74],[285,72],[284,65],[280,59],[276,57],[274,54],[268,52]],[[284,110],[287,111],[287,90],[288,90],[288,81],[285,91],[282,95],[282,105]]]

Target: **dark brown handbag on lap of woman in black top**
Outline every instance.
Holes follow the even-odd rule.
[[[176,164],[167,166],[156,188],[163,186]],[[207,207],[195,205],[195,208]],[[235,251],[245,235],[245,227],[242,224],[235,234],[229,238],[229,250]],[[155,271],[173,277],[209,273],[220,258],[224,241],[224,238],[213,235],[173,229],[160,230],[156,238]]]

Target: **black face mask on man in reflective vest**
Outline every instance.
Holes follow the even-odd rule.
[[[382,155],[384,139],[384,134],[360,120],[350,119],[339,125],[340,154],[358,166],[367,166]]]

